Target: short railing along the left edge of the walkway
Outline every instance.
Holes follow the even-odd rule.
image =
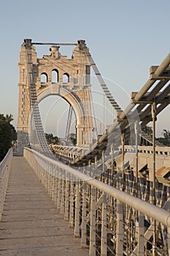
[[[0,221],[1,221],[1,215],[3,214],[4,209],[4,200],[7,193],[7,184],[8,184],[8,178],[9,173],[11,170],[11,162],[12,162],[12,148],[9,149],[6,156],[0,163]]]

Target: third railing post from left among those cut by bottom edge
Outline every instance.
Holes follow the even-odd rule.
[[[117,200],[116,256],[123,256],[123,203]]]

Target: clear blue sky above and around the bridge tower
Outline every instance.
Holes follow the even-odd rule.
[[[149,67],[160,64],[170,51],[169,10],[169,0],[1,1],[0,113],[12,113],[17,125],[18,57],[24,38],[85,39],[105,78],[128,95],[139,91],[149,78]],[[114,88],[110,90],[114,95]],[[158,117],[158,133],[170,129],[169,110]]]

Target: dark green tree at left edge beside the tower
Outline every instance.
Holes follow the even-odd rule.
[[[12,120],[12,115],[4,116],[0,113],[0,161],[4,159],[12,142],[17,140],[15,127],[10,124]]]

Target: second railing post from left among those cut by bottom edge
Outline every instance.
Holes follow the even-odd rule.
[[[101,256],[107,256],[107,195],[103,195],[101,212]]]

